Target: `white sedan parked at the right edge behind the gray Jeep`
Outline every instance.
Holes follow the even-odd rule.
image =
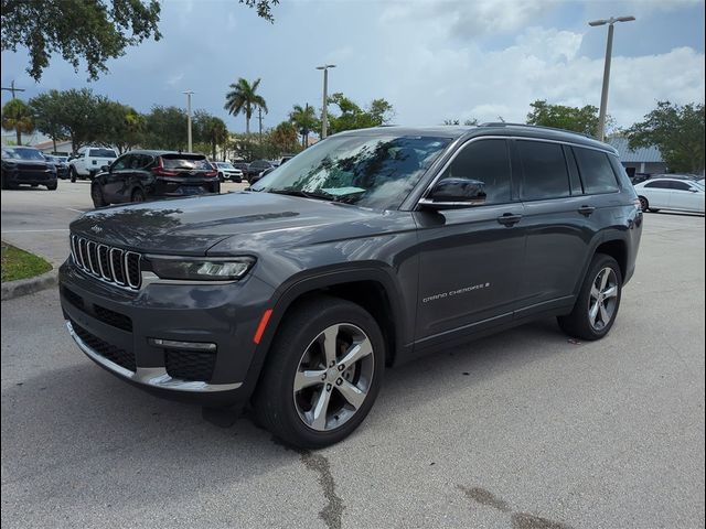
[[[657,177],[635,185],[643,212],[704,213],[704,186],[693,180]]]

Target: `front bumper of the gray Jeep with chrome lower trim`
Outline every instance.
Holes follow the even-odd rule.
[[[256,278],[217,285],[147,282],[131,292],[90,277],[69,258],[60,269],[60,293],[72,338],[118,378],[204,406],[249,398],[253,336],[272,293]],[[154,345],[156,338],[215,347],[178,350]]]

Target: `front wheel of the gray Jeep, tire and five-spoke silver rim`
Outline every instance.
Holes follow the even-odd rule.
[[[328,354],[327,334],[335,335]],[[275,436],[300,449],[321,449],[363,422],[383,381],[385,342],[360,305],[329,296],[302,302],[288,312],[269,350],[253,409]],[[355,352],[366,354],[346,365]],[[323,413],[317,412],[320,406]]]

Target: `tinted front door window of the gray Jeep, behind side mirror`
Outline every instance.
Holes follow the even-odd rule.
[[[485,204],[512,201],[510,152],[505,140],[480,140],[467,143],[441,179],[468,179],[483,182]]]

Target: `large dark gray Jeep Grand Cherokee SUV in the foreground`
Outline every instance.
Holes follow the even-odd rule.
[[[332,136],[253,191],[85,214],[60,271],[97,364],[304,447],[349,435],[386,366],[532,319],[611,328],[642,227],[616,151],[486,125]]]

